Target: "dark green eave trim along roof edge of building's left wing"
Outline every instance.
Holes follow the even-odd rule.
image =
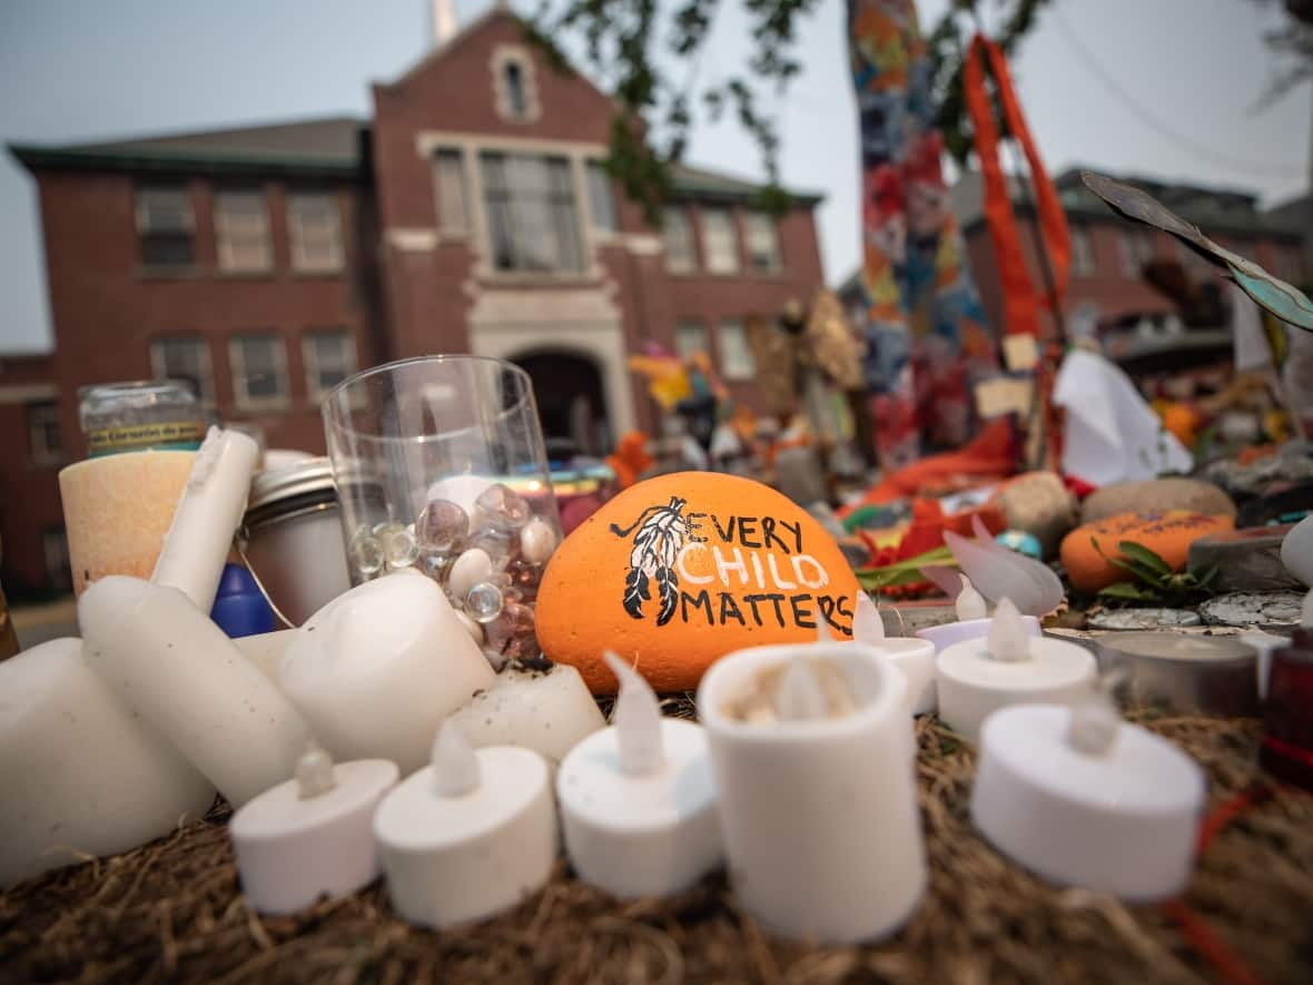
[[[306,155],[184,154],[175,151],[77,150],[39,144],[8,144],[9,152],[37,171],[152,171],[205,175],[295,175],[298,177],[360,179],[360,162]]]

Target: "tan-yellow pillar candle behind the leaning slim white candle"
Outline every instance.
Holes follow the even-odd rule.
[[[59,470],[74,591],[105,575],[150,578],[196,452],[123,452]]]

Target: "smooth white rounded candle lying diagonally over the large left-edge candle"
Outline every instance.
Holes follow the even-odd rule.
[[[291,775],[305,722],[181,591],[102,578],[77,621],[92,670],[234,806]]]

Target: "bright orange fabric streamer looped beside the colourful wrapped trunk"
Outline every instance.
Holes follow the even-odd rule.
[[[1012,200],[1007,190],[1007,177],[998,158],[998,126],[989,93],[985,89],[985,59],[989,59],[994,75],[1003,118],[1011,135],[1022,146],[1031,168],[1031,183],[1040,213],[1040,231],[1044,248],[1053,269],[1053,294],[1043,299],[1037,297],[1031,276],[1025,269],[1020,238],[1016,231],[1016,217],[1012,213]],[[1071,265],[1071,243],[1067,234],[1066,214],[1058,201],[1053,181],[1049,180],[1044,162],[1040,160],[1025,116],[1012,88],[1012,76],[1007,70],[1003,51],[989,38],[977,34],[972,38],[966,53],[966,66],[962,75],[966,109],[976,130],[976,154],[981,162],[981,175],[985,179],[985,219],[989,222],[990,239],[998,257],[999,281],[1003,288],[1003,320],[1008,335],[1024,332],[1039,336],[1040,306],[1057,310],[1066,293],[1067,272]]]

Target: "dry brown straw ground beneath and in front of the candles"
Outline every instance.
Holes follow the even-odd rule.
[[[1212,808],[1254,789],[1257,724],[1146,724],[1203,763]],[[916,732],[931,884],[911,923],[880,946],[775,940],[721,877],[675,900],[617,905],[563,863],[513,913],[454,932],[403,923],[378,885],[263,919],[238,890],[219,809],[0,894],[0,981],[1313,981],[1313,796],[1276,791],[1204,854],[1184,906],[1242,965],[1218,971],[1179,910],[1057,890],[995,854],[968,818],[973,750],[934,718]]]

